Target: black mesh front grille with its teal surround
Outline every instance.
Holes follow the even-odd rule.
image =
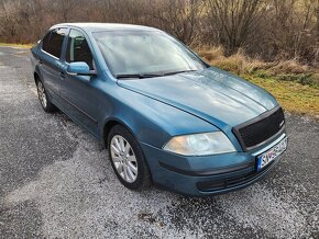
[[[276,135],[284,127],[284,112],[276,107],[233,128],[244,150],[254,148]]]

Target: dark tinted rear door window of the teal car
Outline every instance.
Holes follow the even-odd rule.
[[[43,38],[42,49],[46,53],[59,58],[62,52],[62,45],[64,37],[66,35],[66,29],[56,29],[51,31],[46,36]]]

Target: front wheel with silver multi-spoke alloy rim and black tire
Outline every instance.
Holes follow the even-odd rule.
[[[116,125],[111,128],[108,151],[112,168],[125,187],[143,191],[151,185],[151,174],[143,151],[125,127]]]

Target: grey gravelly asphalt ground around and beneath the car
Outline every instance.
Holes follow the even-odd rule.
[[[0,47],[0,238],[319,238],[318,122],[286,114],[287,152],[248,189],[136,193],[100,143],[42,111],[28,50]]]

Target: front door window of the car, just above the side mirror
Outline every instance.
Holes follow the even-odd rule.
[[[69,32],[65,59],[67,62],[85,61],[90,69],[94,69],[94,58],[88,42],[76,30]]]

